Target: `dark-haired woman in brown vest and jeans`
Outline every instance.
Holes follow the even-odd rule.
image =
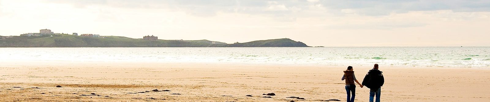
[[[347,102],[354,102],[354,98],[356,97],[356,84],[354,84],[354,81],[356,81],[361,88],[363,88],[363,85],[359,83],[356,79],[356,76],[354,76],[354,69],[352,66],[347,67],[347,70],[343,71],[343,76],[342,80],[345,79],[345,91],[347,91]],[[352,92],[352,98],[350,93]]]

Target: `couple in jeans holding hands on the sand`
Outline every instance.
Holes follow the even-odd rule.
[[[342,80],[345,80],[345,91],[347,91],[347,102],[354,102],[356,96],[356,85],[354,81],[359,84],[361,88],[364,86],[369,88],[369,102],[374,102],[374,96],[376,96],[376,102],[379,102],[381,95],[381,86],[385,83],[385,78],[383,77],[383,72],[378,70],[378,64],[374,64],[372,70],[369,70],[366,77],[364,77],[363,83],[357,81],[356,76],[354,76],[354,69],[352,66],[347,67],[347,70],[343,71]],[[352,93],[352,95],[351,95]]]

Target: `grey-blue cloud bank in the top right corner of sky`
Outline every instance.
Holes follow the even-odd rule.
[[[351,9],[358,11],[357,14],[366,16],[383,16],[409,11],[490,11],[490,0],[322,0],[319,3],[328,9]]]

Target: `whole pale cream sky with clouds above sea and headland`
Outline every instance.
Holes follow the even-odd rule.
[[[490,46],[490,0],[0,0],[0,35],[51,29],[228,44]]]

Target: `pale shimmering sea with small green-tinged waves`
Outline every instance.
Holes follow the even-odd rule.
[[[490,68],[490,47],[0,48],[0,61]]]

